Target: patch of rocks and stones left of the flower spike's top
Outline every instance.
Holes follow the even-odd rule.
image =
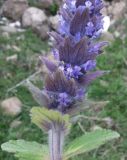
[[[58,3],[42,0],[37,4],[39,7],[27,0],[5,1],[0,9],[0,32],[14,33],[32,28],[42,40],[47,39],[47,32],[57,25],[58,18],[53,14],[56,14]]]

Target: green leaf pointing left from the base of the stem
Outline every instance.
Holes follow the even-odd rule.
[[[10,140],[1,145],[3,151],[14,153],[20,160],[47,160],[48,146],[37,142]]]

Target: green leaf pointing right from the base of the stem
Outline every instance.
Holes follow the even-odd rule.
[[[105,129],[86,133],[85,135],[75,139],[67,146],[64,158],[67,160],[73,156],[89,152],[105,144],[109,140],[118,138],[119,136],[120,135],[117,132]]]

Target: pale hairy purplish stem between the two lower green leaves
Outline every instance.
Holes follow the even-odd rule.
[[[50,160],[62,160],[64,132],[60,126],[49,131]]]

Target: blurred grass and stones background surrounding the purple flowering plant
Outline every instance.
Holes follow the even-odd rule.
[[[47,143],[47,135],[30,122],[30,109],[37,104],[23,85],[29,79],[43,86],[40,79],[45,68],[38,57],[50,52],[47,32],[57,27],[61,3],[0,0],[0,144],[10,139]],[[97,69],[111,72],[90,85],[89,109],[73,126],[67,143],[98,127],[116,130],[121,138],[74,160],[127,160],[127,1],[107,0],[105,6],[102,39],[110,45],[98,57]],[[16,160],[2,151],[0,159]]]

